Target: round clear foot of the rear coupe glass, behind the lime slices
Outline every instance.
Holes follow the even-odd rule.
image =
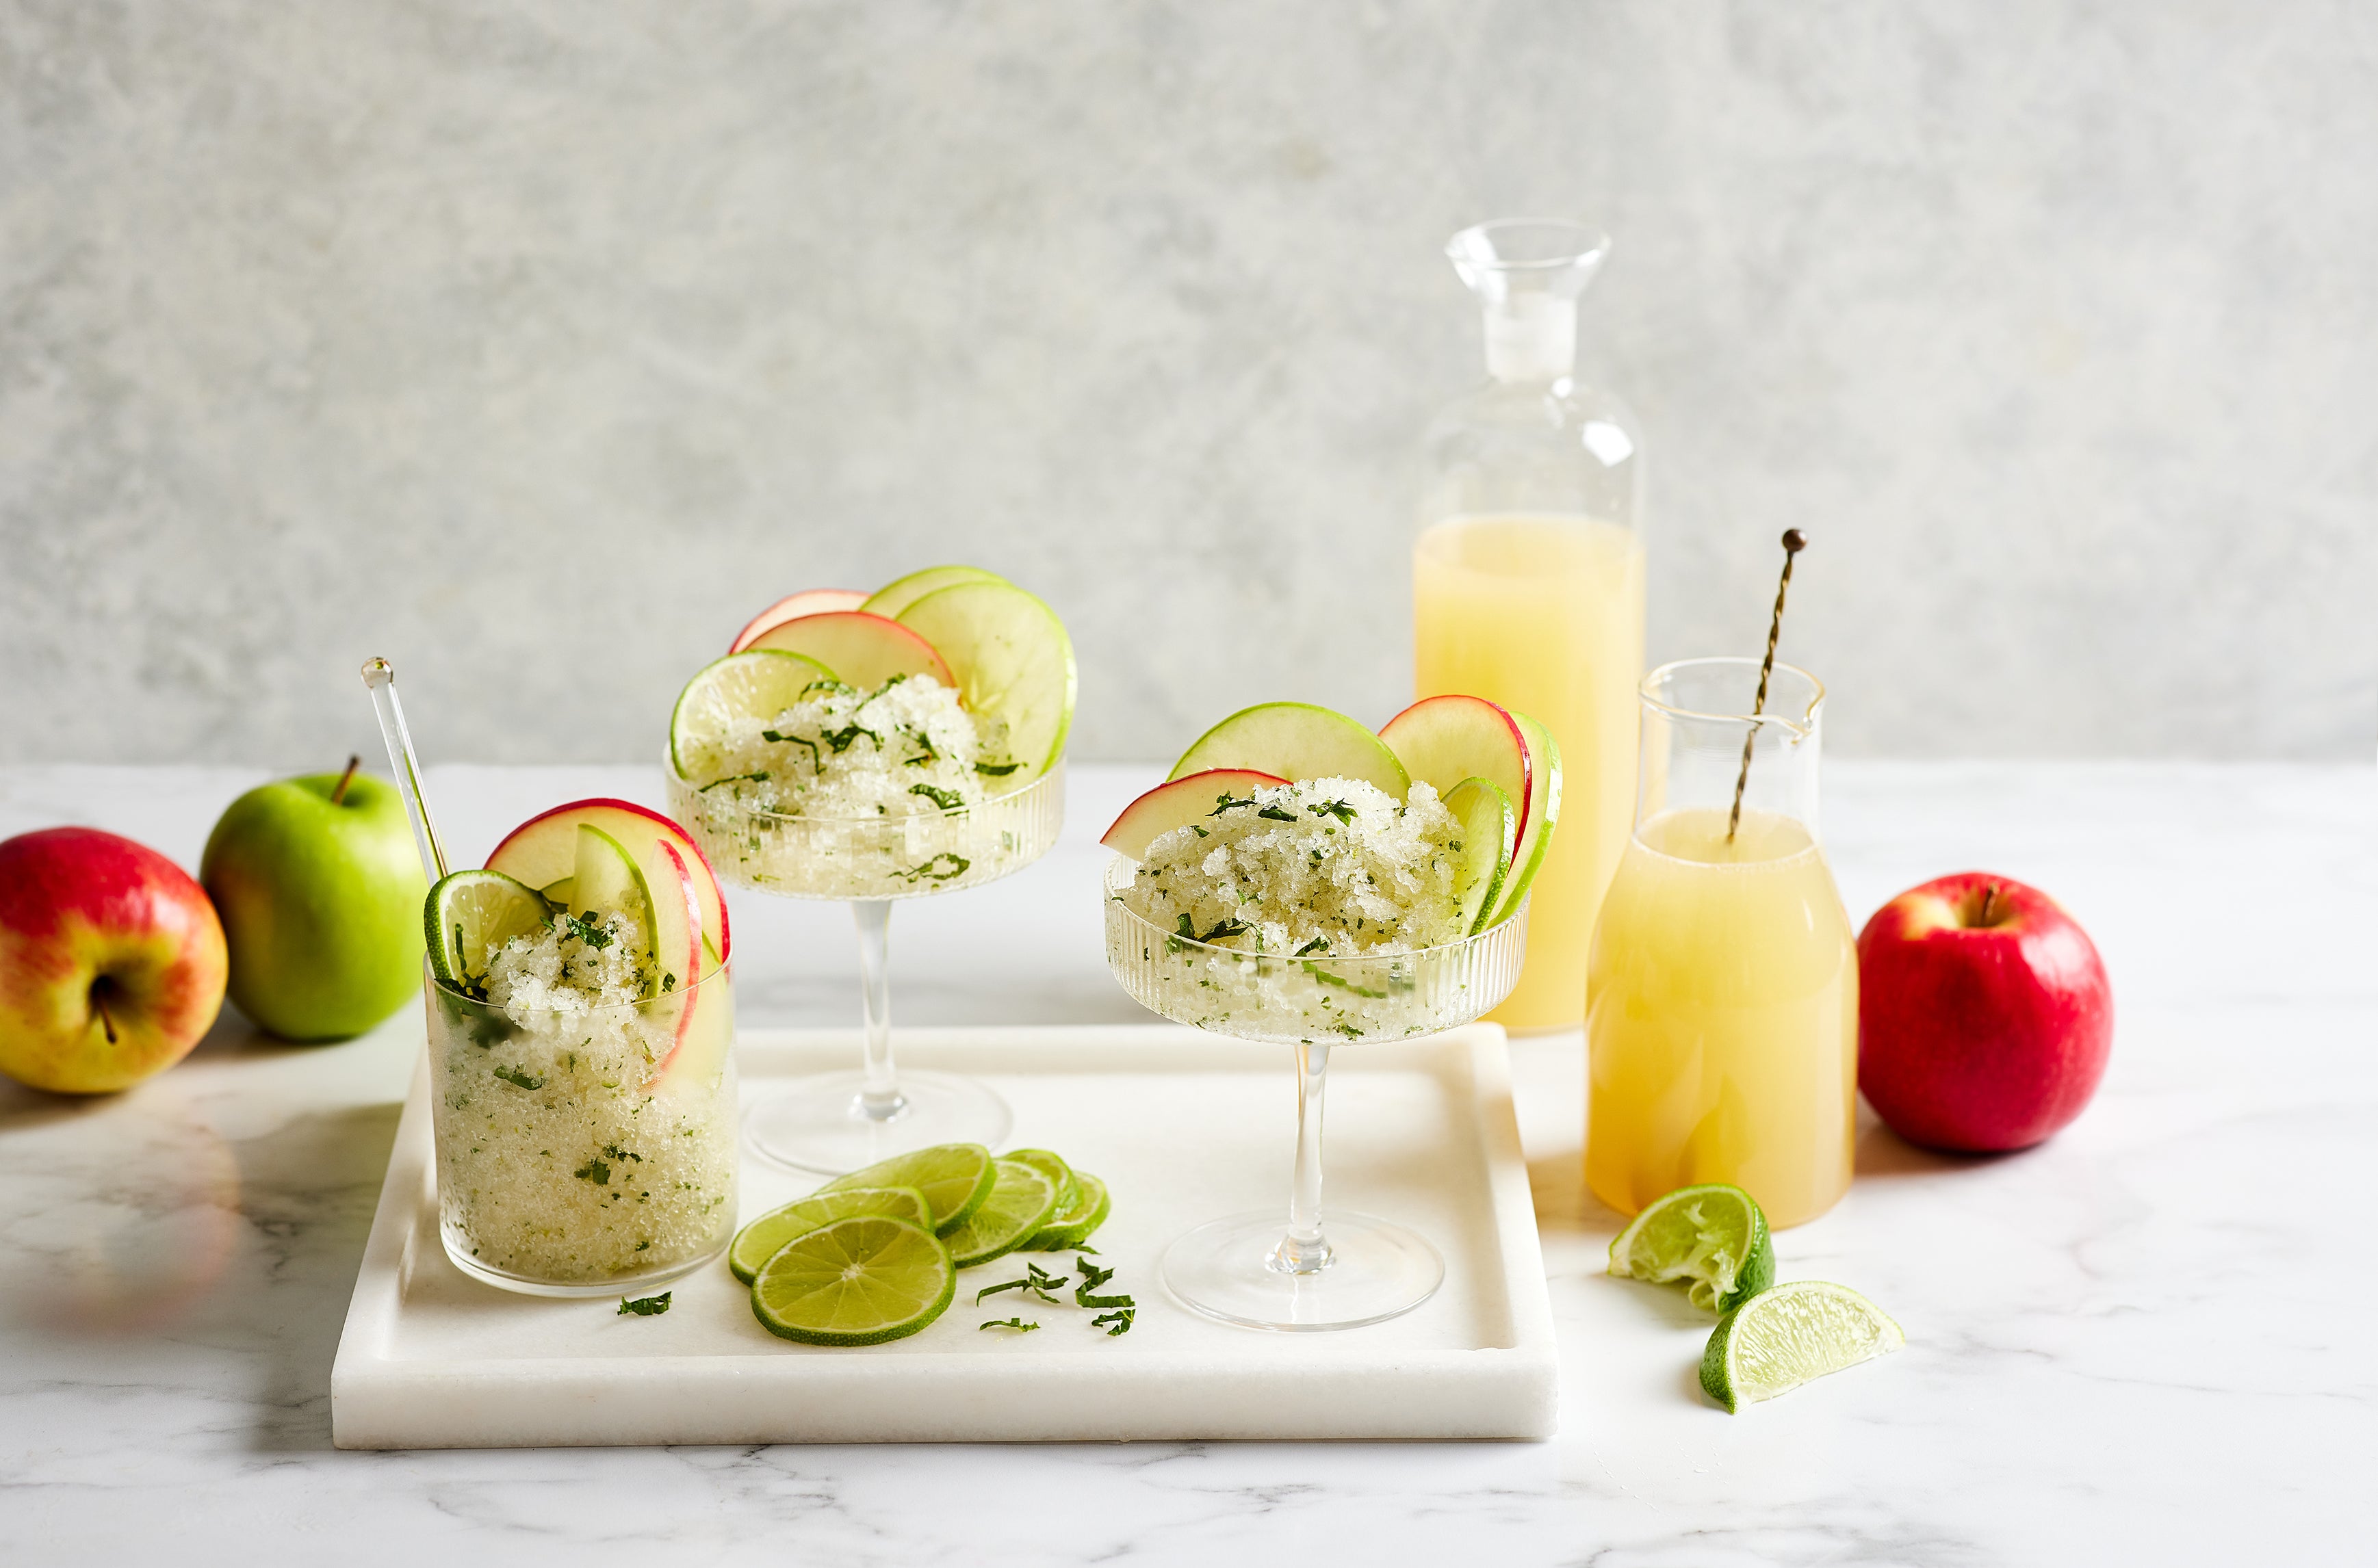
[[[975,1079],[901,1071],[904,1105],[882,1121],[866,1112],[866,1086],[861,1071],[801,1079],[749,1109],[744,1143],[775,1164],[842,1176],[935,1143],[982,1143],[996,1150],[1015,1126],[1008,1102]]]

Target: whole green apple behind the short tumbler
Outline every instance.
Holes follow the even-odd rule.
[[[421,991],[421,858],[395,784],[319,772],[262,784],[207,834],[231,1000],[285,1041],[345,1041]]]

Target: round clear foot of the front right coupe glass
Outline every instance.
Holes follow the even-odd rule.
[[[1436,1247],[1370,1214],[1329,1214],[1329,1264],[1313,1273],[1275,1266],[1284,1231],[1279,1209],[1208,1221],[1165,1247],[1165,1290],[1218,1323],[1322,1333],[1403,1316],[1446,1278]]]

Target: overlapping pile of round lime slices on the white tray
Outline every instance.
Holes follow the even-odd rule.
[[[904,1340],[949,1311],[958,1269],[1080,1247],[1106,1183],[1049,1150],[937,1143],[761,1214],[728,1247],[751,1316],[801,1345]]]

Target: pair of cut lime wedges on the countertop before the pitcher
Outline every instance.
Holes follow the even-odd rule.
[[[1610,1243],[1610,1273],[1684,1283],[1696,1307],[1722,1314],[1700,1357],[1700,1387],[1726,1411],[1907,1345],[1900,1326],[1848,1285],[1776,1285],[1767,1214],[1726,1183],[1650,1202]]]

